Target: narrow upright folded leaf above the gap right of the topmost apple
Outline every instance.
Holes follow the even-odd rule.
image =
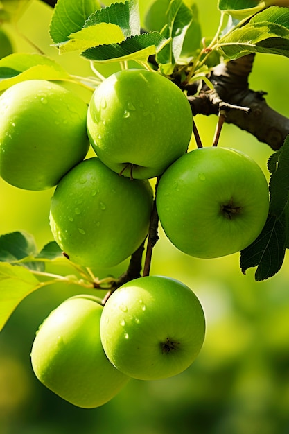
[[[166,15],[168,24],[161,34],[170,42],[157,53],[157,62],[163,72],[170,74],[181,56],[186,32],[193,21],[193,12],[182,0],[172,0]]]

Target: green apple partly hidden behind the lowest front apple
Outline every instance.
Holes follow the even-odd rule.
[[[71,297],[44,320],[31,350],[37,379],[82,408],[102,406],[128,383],[100,341],[100,306],[93,296]]]

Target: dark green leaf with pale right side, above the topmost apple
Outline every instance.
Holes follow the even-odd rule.
[[[141,21],[139,16],[139,2],[137,0],[125,1],[125,3],[112,3],[112,5],[96,10],[85,21],[84,27],[96,26],[96,24],[116,24],[123,31],[125,37],[139,35],[141,33]]]

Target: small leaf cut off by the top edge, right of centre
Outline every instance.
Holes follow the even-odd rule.
[[[235,19],[245,19],[265,8],[260,0],[219,0],[218,8]]]

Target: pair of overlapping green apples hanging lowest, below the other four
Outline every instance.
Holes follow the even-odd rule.
[[[91,295],[62,302],[37,331],[31,362],[55,394],[95,408],[131,378],[184,371],[198,356],[204,332],[204,312],[190,288],[168,277],[140,277],[115,290],[104,307]]]

